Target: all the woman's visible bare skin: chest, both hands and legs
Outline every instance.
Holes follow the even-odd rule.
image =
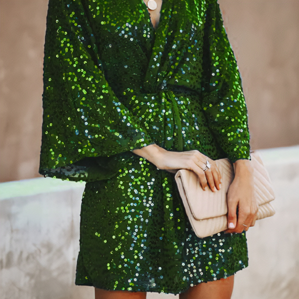
[[[157,8],[150,10],[150,20],[154,28],[160,18],[162,0],[155,0]],[[148,0],[144,0],[145,3]],[[159,169],[175,173],[178,169],[194,171],[200,180],[203,190],[210,188],[217,192],[221,188],[221,174],[214,160],[198,150],[167,151],[157,145],[149,145],[133,152],[140,155]],[[203,171],[206,161],[211,168]],[[254,226],[258,205],[253,193],[253,167],[250,160],[240,159],[234,163],[235,177],[227,192],[228,227],[226,233],[242,233],[250,226]],[[238,215],[237,215],[238,207]],[[246,226],[245,226],[246,225]],[[234,287],[234,275],[208,283],[200,283],[190,287],[186,292],[179,294],[179,299],[230,299]],[[95,299],[146,299],[147,292],[108,291],[95,288]]]

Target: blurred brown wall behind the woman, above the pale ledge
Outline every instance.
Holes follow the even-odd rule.
[[[253,149],[299,144],[299,1],[218,0]],[[0,181],[39,177],[48,0],[0,0]]]

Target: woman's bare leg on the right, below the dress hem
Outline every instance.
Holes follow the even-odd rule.
[[[179,299],[230,299],[233,287],[234,275],[190,287],[186,292],[179,294]]]

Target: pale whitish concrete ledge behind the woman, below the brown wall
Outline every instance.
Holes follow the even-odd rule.
[[[276,215],[248,231],[250,266],[237,273],[232,298],[298,299],[299,146],[259,152]],[[84,186],[49,177],[0,183],[1,299],[94,298],[92,287],[74,285]]]

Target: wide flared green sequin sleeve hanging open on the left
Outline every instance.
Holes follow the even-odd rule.
[[[109,157],[154,142],[106,81],[85,9],[80,0],[49,0],[39,173],[88,181],[117,171]]]

